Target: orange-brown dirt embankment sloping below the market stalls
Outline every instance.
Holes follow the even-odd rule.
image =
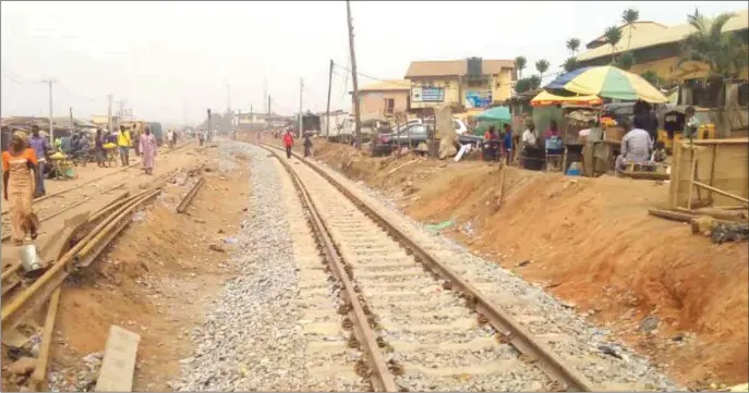
[[[650,217],[667,184],[510,168],[499,204],[496,165],[372,158],[319,139],[315,157],[416,220],[454,220],[446,234],[575,303],[681,383],[747,381],[747,245],[713,245]],[[657,327],[643,333],[651,316]]]

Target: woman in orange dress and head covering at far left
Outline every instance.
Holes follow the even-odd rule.
[[[8,151],[2,153],[3,198],[8,201],[12,242],[20,246],[31,235],[36,240],[39,220],[32,207],[34,174],[37,171],[36,153],[29,147],[28,135],[16,131],[11,136]]]

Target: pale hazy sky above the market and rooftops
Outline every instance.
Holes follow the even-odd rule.
[[[264,110],[264,79],[276,112],[324,111],[328,62],[349,64],[346,3],[2,1],[2,101],[8,115],[107,112],[107,95],[144,119],[200,122],[206,108]],[[747,7],[742,1],[468,2],[353,1],[360,73],[401,78],[410,61],[524,56],[558,71],[565,41],[588,42],[637,8],[641,20],[686,22]],[[530,70],[525,73],[529,74]],[[351,77],[337,69],[333,109],[350,108]],[[360,86],[372,83],[360,76]],[[227,85],[230,85],[230,91]]]

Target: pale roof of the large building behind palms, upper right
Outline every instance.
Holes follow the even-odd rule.
[[[694,28],[688,23],[676,25],[672,27],[665,27],[657,23],[649,22],[638,24],[633,29],[631,29],[632,38],[629,39],[630,33],[629,26],[623,26],[621,40],[616,46],[615,53],[621,53],[629,50],[644,49],[649,47],[654,47],[656,45],[678,42],[685,39],[689,34],[694,32]],[[749,28],[749,10],[740,10],[734,12],[734,17],[732,17],[728,23],[726,23],[723,28],[724,32],[736,32]],[[596,38],[591,44],[600,40]],[[597,48],[591,49],[580,56],[578,56],[578,61],[589,61],[593,59],[603,58],[606,56],[612,56],[612,46],[602,45]]]

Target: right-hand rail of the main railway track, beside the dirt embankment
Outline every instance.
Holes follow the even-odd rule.
[[[279,147],[273,145],[263,146],[266,148],[271,147],[276,150],[281,150]],[[504,340],[508,344],[512,345],[516,349],[529,358],[539,360],[539,367],[549,378],[565,383],[566,389],[570,391],[593,392],[600,390],[581,372],[577,371],[571,366],[567,366],[565,360],[554,353],[554,351],[552,351],[546,344],[535,340],[530,331],[518,323],[509,314],[495,306],[485,295],[481,293],[481,291],[463,280],[460,274],[449,269],[445,263],[440,262],[437,257],[419,246],[416,242],[410,238],[410,236],[379,214],[374,207],[370,206],[370,204],[366,201],[361,200],[346,186],[330,176],[326,170],[322,169],[315,162],[303,159],[297,152],[292,152],[292,155],[300,161],[305,162],[312,170],[314,170],[336,189],[343,194],[367,217],[373,219],[387,232],[392,234],[404,248],[414,255],[416,261],[424,265],[424,267],[426,267],[433,273],[436,273],[444,280],[447,280],[452,285],[452,290],[461,292],[467,298],[468,304],[472,305],[478,314],[486,317],[488,319],[488,323],[500,334],[503,334]]]

